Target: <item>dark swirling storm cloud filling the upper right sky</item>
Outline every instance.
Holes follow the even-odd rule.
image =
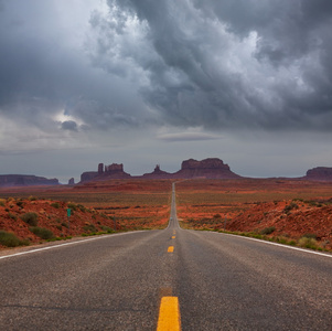
[[[109,0],[108,6],[109,15],[94,20],[103,45],[96,62],[121,75],[119,57],[135,63],[149,79],[141,95],[168,122],[331,128],[331,1]],[[137,35],[129,44],[132,22]]]

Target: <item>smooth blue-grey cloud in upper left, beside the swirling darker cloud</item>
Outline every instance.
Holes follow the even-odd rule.
[[[84,39],[74,45],[77,31],[58,22],[57,3],[14,0],[2,7],[0,116],[45,131],[57,128],[61,113],[96,130],[137,126],[142,103],[127,92],[131,83],[90,66]]]

